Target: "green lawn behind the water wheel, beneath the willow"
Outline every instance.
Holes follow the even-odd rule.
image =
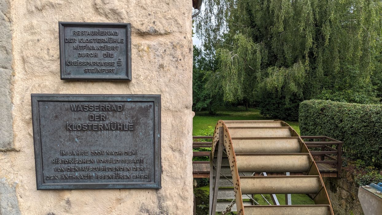
[[[193,135],[197,136],[201,134],[201,130],[208,129],[208,126],[215,128],[215,124],[218,120],[276,120],[273,118],[267,118],[260,114],[260,110],[255,108],[238,108],[235,110],[220,110],[216,115],[209,115],[207,111],[195,112],[193,119]],[[286,121],[296,132],[299,134],[300,129],[298,122]]]

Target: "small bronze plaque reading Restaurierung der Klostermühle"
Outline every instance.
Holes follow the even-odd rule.
[[[130,23],[59,22],[63,80],[131,80]]]

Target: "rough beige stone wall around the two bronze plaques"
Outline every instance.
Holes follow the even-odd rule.
[[[0,0],[0,11],[0,214],[191,214],[192,1]],[[133,80],[60,80],[58,21],[131,23]],[[37,191],[31,93],[161,94],[162,189]]]

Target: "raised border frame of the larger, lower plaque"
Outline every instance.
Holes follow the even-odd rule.
[[[50,189],[160,189],[161,186],[161,121],[160,95],[121,94],[31,94],[34,158],[37,190]],[[40,137],[39,102],[154,102],[154,179],[151,183],[43,183],[42,142]]]

